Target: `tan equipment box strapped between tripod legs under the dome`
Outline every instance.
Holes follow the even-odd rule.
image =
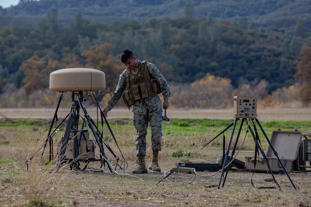
[[[84,133],[86,141],[84,137],[81,138],[81,143],[78,152],[78,159],[94,159],[95,158],[95,147],[92,139],[89,139],[89,133]],[[77,135],[77,139],[80,138],[80,133]],[[87,147],[87,149],[86,149]],[[74,133],[70,133],[69,141],[66,147],[65,152],[66,159],[73,160],[74,158]]]

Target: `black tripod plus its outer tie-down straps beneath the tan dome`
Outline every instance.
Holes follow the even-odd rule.
[[[93,94],[93,96],[94,96],[94,94]],[[111,152],[111,154],[117,160],[117,163],[115,164],[116,168],[117,168],[117,166],[120,167],[120,165],[118,165],[119,157],[117,155],[115,155],[114,151],[110,148],[108,143],[103,142],[104,141],[103,140],[103,132],[100,132],[99,126],[95,124],[95,122],[92,120],[90,115],[86,112],[86,108],[85,108],[84,104],[82,103],[83,101],[86,101],[83,99],[83,91],[73,91],[72,92],[72,102],[73,103],[71,106],[70,113],[68,113],[68,115],[63,119],[63,121],[52,132],[54,121],[55,120],[58,121],[57,112],[58,112],[62,97],[63,97],[63,93],[60,95],[58,105],[57,105],[57,108],[56,108],[50,129],[49,129],[48,136],[47,136],[44,144],[39,148],[39,150],[35,154],[37,154],[43,148],[43,152],[41,155],[41,157],[42,157],[44,154],[45,147],[49,143],[49,147],[50,147],[50,149],[49,149],[49,161],[53,160],[53,158],[54,158],[54,155],[53,155],[53,136],[59,131],[59,129],[61,129],[63,127],[64,124],[67,123],[64,136],[62,137],[60,144],[59,144],[60,150],[58,151],[58,159],[56,161],[56,164],[57,164],[56,170],[58,171],[58,169],[64,163],[69,163],[70,169],[72,169],[72,167],[75,167],[76,169],[80,169],[79,168],[79,165],[80,165],[79,162],[84,161],[86,163],[86,166],[84,167],[84,169],[86,169],[87,164],[89,162],[99,161],[99,162],[101,162],[101,167],[103,165],[105,167],[105,163],[107,163],[107,166],[108,166],[110,172],[112,173],[113,172],[112,165],[109,163],[107,156],[105,155],[103,144],[108,148],[108,150]],[[95,98],[95,96],[94,96],[94,98]],[[96,100],[96,102],[97,102],[97,100]],[[98,108],[100,109],[98,102],[97,102],[97,105],[98,105]],[[103,114],[101,109],[100,109],[100,116],[101,116],[102,127],[103,127],[104,120],[105,120],[107,127],[109,128],[109,131],[110,131],[112,137],[114,138],[114,142],[118,146],[118,143],[114,137],[114,134],[112,133],[112,130],[108,124],[108,121],[107,121],[106,117],[104,117],[104,114]],[[80,117],[82,119],[82,124],[79,125]],[[67,122],[65,122],[66,120],[67,120]],[[87,129],[84,129],[85,126],[87,127]],[[81,129],[79,129],[79,127],[81,127]],[[90,136],[91,136],[91,139],[88,139],[88,141],[86,139],[86,133],[90,133]],[[82,140],[82,139],[84,139],[84,140]],[[69,141],[71,144],[70,146],[72,148],[68,149],[66,151],[66,149],[68,148],[68,142]],[[84,142],[83,146],[82,146],[82,141]],[[83,155],[81,155],[81,151],[80,151],[81,146],[82,146],[81,151],[82,151]],[[118,148],[119,148],[119,146],[118,146]],[[97,149],[99,151],[100,159],[95,159],[95,152],[94,152],[95,149]],[[68,151],[69,151],[69,153],[68,153]],[[122,155],[120,148],[119,148],[119,151]],[[68,157],[66,157],[66,152],[68,153],[67,154]],[[93,152],[93,153],[91,153],[91,152]],[[33,159],[35,154],[32,155],[32,157],[30,159],[26,160],[27,170],[28,170],[28,162],[30,162],[30,160]],[[84,154],[87,154],[87,155],[84,155]],[[122,157],[123,157],[123,165],[124,165],[123,171],[124,171],[126,161],[125,161],[125,158],[123,155],[122,155]],[[122,168],[120,167],[120,169],[122,169]]]

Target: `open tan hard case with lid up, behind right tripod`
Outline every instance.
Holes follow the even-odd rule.
[[[287,173],[292,170],[292,163],[297,158],[298,150],[300,147],[300,141],[302,132],[299,131],[273,131],[270,142],[277,152],[281,162],[283,163]],[[276,155],[274,155],[272,148],[268,147],[267,160],[274,173],[284,173],[282,165],[279,163]],[[253,157],[245,157],[245,170],[254,171]],[[257,158],[256,171],[270,172],[263,157]]]

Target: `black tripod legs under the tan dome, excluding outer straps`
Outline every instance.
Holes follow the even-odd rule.
[[[75,100],[75,95],[77,95],[77,100]],[[77,160],[79,159],[79,150],[80,150],[80,144],[81,144],[81,139],[82,137],[86,140],[86,136],[84,134],[84,132],[88,132],[87,130],[84,130],[84,126],[87,125],[89,130],[92,132],[92,134],[94,135],[94,139],[92,139],[92,141],[94,143],[98,144],[99,147],[99,151],[100,151],[100,155],[102,157],[102,159],[87,159],[88,161],[101,161],[101,162],[106,162],[108,165],[108,168],[110,169],[110,172],[112,172],[111,169],[111,164],[108,161],[107,156],[105,155],[104,152],[104,147],[102,145],[102,140],[100,140],[100,138],[98,137],[98,129],[95,131],[95,128],[93,126],[94,122],[92,121],[90,115],[86,112],[86,108],[84,106],[83,102],[83,92],[79,91],[79,92],[72,92],[72,106],[71,106],[71,110],[70,113],[67,115],[68,116],[68,120],[67,120],[67,125],[66,125],[66,129],[65,129],[65,134],[64,137],[61,140],[61,148],[59,150],[59,154],[58,154],[58,159],[57,159],[57,167],[56,170],[58,171],[58,169],[60,168],[60,166],[63,163],[68,162],[68,159],[66,159],[66,148],[68,145],[68,141],[70,138],[70,134],[73,133],[73,159],[69,160],[72,161],[72,163],[70,163],[71,168],[72,166],[75,166],[76,169],[79,168],[78,166],[78,162]],[[80,115],[80,110],[82,112],[82,115]],[[79,118],[82,118],[82,126],[81,126],[81,130],[78,130],[79,128]],[[79,136],[80,135],[80,136]],[[92,149],[94,151],[94,148]],[[91,151],[91,149],[89,149],[86,146],[86,151]]]

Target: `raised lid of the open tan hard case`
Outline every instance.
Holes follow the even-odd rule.
[[[299,131],[273,131],[270,142],[280,159],[296,160],[300,147],[302,132]],[[267,157],[276,158],[269,145]]]

